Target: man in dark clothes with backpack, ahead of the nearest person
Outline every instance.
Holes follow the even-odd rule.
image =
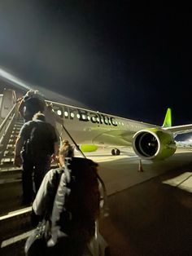
[[[23,203],[30,205],[46,172],[51,159],[59,150],[55,128],[46,122],[42,113],[36,113],[33,121],[24,123],[15,143],[14,165],[23,165]]]

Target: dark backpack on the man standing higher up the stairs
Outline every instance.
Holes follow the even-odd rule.
[[[28,157],[42,157],[54,153],[55,128],[46,121],[33,121],[33,127],[25,144]]]

